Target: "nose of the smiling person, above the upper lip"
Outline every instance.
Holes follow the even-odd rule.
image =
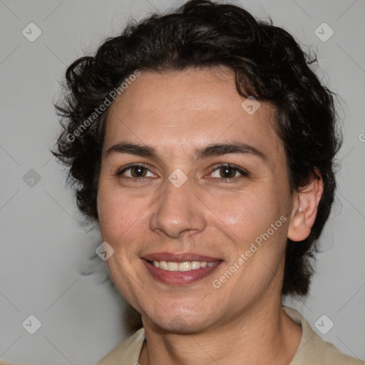
[[[192,192],[189,181],[175,187],[166,180],[164,185],[150,216],[150,229],[170,238],[202,232],[206,227],[204,205]]]

